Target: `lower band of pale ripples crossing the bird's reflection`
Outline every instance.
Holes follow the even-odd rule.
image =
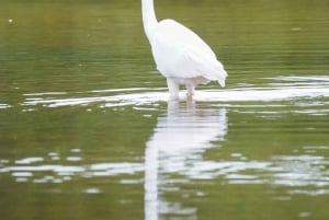
[[[172,154],[169,150],[171,158],[168,158],[163,149],[150,151],[150,148],[147,148],[146,152],[152,153],[146,153],[146,163],[106,162],[77,165],[76,161],[67,161],[66,164],[49,164],[43,158],[26,158],[16,160],[12,164],[8,160],[1,160],[0,173],[11,174],[16,182],[31,181],[33,183],[63,183],[70,181],[70,176],[82,178],[125,174],[134,176],[143,172],[156,172],[161,174],[162,181],[164,176],[169,177],[174,174],[175,177],[170,177],[170,184],[188,180],[223,177],[226,180],[223,184],[273,184],[288,187],[329,186],[326,169],[329,166],[329,160],[326,157],[282,155],[273,157],[269,161],[256,161],[240,155],[230,161],[212,161],[201,158],[203,150],[195,151],[193,148],[190,149],[190,152],[186,150],[182,157]],[[122,181],[125,182],[125,180]],[[139,184],[140,182],[129,180],[129,183]]]

